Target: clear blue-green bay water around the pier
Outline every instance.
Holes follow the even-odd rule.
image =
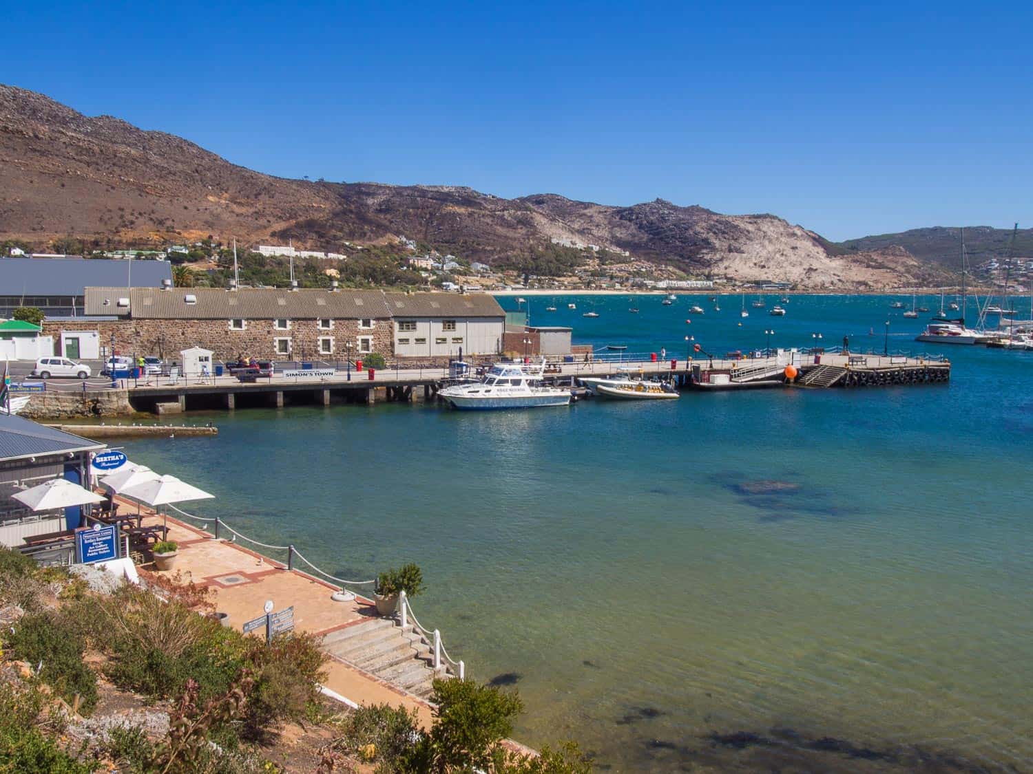
[[[885,297],[791,296],[785,318],[747,297],[746,320],[739,296],[573,299],[532,298],[532,323],[680,360],[686,335],[721,353],[765,329],[881,351],[886,320],[889,350],[934,349]],[[916,749],[1031,770],[1033,352],[940,351],[946,386],[247,410],[126,450],[342,577],[417,561],[420,621],[520,688],[531,744],[624,771],[903,770]]]

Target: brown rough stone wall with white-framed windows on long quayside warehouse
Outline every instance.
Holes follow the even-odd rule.
[[[373,321],[373,328],[358,327],[357,320],[334,320],[331,329],[317,327],[316,320],[291,320],[288,330],[274,328],[273,320],[247,320],[244,330],[230,330],[228,320],[117,320],[117,321],[54,321],[43,323],[46,335],[60,338],[62,330],[97,330],[102,347],[111,346],[115,334],[115,350],[125,355],[155,355],[175,360],[182,350],[204,347],[212,350],[216,360],[233,361],[239,355],[259,360],[343,360],[346,343],[352,345],[353,359],[358,353],[359,337],[373,340],[373,352],[390,358],[394,349],[390,320]],[[319,340],[334,340],[334,352],[319,351]],[[276,340],[290,340],[290,354],[277,352]]]

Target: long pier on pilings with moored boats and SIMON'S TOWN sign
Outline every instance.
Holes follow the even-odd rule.
[[[791,379],[785,376],[788,366],[795,369]],[[618,373],[670,380],[685,388],[722,382],[751,388],[761,386],[757,383],[762,382],[769,383],[763,386],[850,388],[944,383],[950,379],[950,362],[937,355],[883,355],[835,350],[771,350],[746,356],[726,353],[720,357],[695,352],[688,360],[678,357],[660,359],[647,353],[621,357],[596,356],[578,361],[554,358],[546,364],[543,380],[575,388],[582,377]],[[304,372],[291,369],[286,374],[274,370],[269,376],[248,382],[231,376],[151,377],[148,381],[128,381],[124,385],[134,410],[166,415],[247,407],[434,400],[438,390],[449,379],[447,367],[413,368],[404,367],[401,363],[375,370],[324,369],[307,376]]]

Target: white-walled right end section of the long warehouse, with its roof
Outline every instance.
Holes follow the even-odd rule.
[[[385,293],[398,357],[497,355],[506,314],[487,294]]]

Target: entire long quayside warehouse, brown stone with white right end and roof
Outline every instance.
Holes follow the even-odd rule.
[[[87,288],[86,312],[44,330],[96,330],[120,354],[175,358],[204,347],[224,361],[496,354],[505,321],[489,295],[350,289]]]

